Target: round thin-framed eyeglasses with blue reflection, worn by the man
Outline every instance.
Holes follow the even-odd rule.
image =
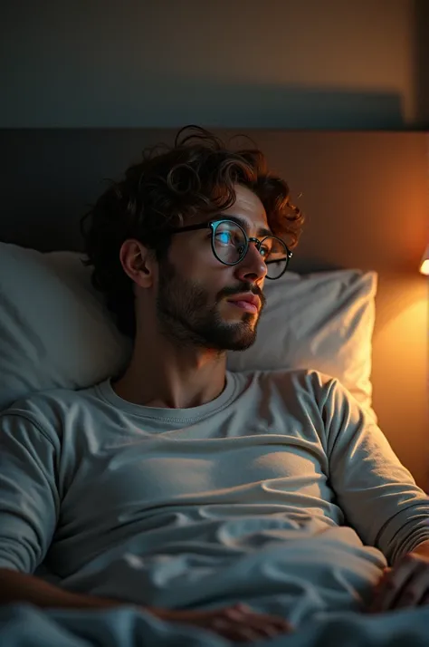
[[[235,266],[240,263],[247,253],[249,243],[253,242],[267,266],[266,278],[274,280],[286,272],[292,253],[281,238],[276,236],[266,236],[262,240],[250,238],[243,227],[234,220],[228,218],[211,220],[201,225],[176,228],[171,233],[178,234],[182,231],[205,227],[212,229],[213,253],[225,266]]]

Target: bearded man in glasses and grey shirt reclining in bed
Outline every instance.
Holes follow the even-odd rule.
[[[201,129],[99,198],[87,264],[133,353],[1,416],[3,603],[134,604],[247,642],[429,602],[426,497],[348,391],[225,370],[302,222],[262,153]]]

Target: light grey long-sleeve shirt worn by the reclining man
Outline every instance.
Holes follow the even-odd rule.
[[[385,436],[316,371],[226,372],[191,409],[110,380],[0,415],[0,566],[167,608],[247,601],[298,623],[356,609],[429,539],[429,505]]]

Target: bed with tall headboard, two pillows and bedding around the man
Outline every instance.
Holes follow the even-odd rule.
[[[427,285],[418,265],[427,237],[427,136],[243,134],[287,179],[307,224],[290,272],[278,285],[266,287],[260,339],[250,352],[232,353],[228,368],[245,372],[311,365],[338,377],[426,488]],[[172,130],[0,133],[0,409],[33,391],[95,383],[126,362],[129,346],[91,292],[88,272],[79,262],[79,218],[102,190],[103,178],[117,178],[144,147],[173,137]],[[52,320],[52,313],[55,327],[43,319],[49,314]],[[275,339],[274,329],[279,330]],[[405,615],[391,617],[386,626],[381,616],[364,622],[353,614],[338,615],[272,645],[321,647],[334,640],[390,645],[400,635],[409,640],[410,627],[418,645],[429,613]],[[20,627],[37,626],[44,646],[226,644],[196,630],[173,631],[130,608],[80,613],[78,620],[76,612],[3,608],[0,637],[14,647],[22,639]]]

